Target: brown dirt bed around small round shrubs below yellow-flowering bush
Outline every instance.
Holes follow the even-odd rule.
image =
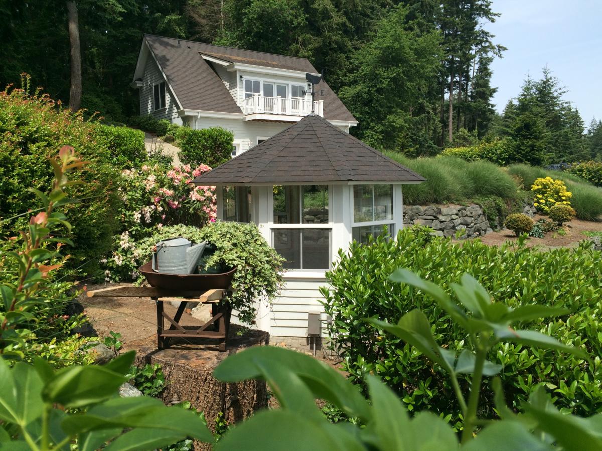
[[[547,216],[536,216],[534,219],[547,218]],[[528,247],[541,247],[546,249],[554,249],[559,247],[574,247],[580,241],[588,237],[583,235],[583,232],[600,232],[602,231],[602,222],[580,221],[573,219],[568,222],[564,230],[566,235],[562,236],[558,232],[546,233],[544,238],[529,238],[527,240]],[[500,230],[500,232],[491,232],[480,238],[480,240],[491,246],[499,246],[506,241],[516,241],[517,237],[511,230]]]

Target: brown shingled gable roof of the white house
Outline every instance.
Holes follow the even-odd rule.
[[[215,46],[151,34],[144,35],[144,42],[163,70],[182,108],[188,110],[242,114],[222,79],[208,61],[203,60],[202,55],[229,63],[317,73],[306,58]],[[326,82],[315,85],[315,90],[324,90],[324,96],[317,97],[324,100],[324,118],[356,121]]]

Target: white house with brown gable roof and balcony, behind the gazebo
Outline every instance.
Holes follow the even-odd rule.
[[[231,130],[234,156],[312,111],[345,132],[357,124],[324,81],[312,102],[306,73],[318,75],[306,58],[146,34],[132,87],[140,91],[141,115]]]

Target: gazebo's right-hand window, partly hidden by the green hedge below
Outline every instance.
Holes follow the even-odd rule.
[[[368,236],[382,235],[383,225],[391,236],[395,227],[393,185],[354,185],[352,238],[365,243]]]

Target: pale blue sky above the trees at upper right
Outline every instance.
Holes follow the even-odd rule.
[[[586,126],[602,119],[602,0],[494,0],[492,9],[501,17],[485,28],[507,47],[492,64],[495,109],[518,95],[527,74],[539,79],[547,65]]]

